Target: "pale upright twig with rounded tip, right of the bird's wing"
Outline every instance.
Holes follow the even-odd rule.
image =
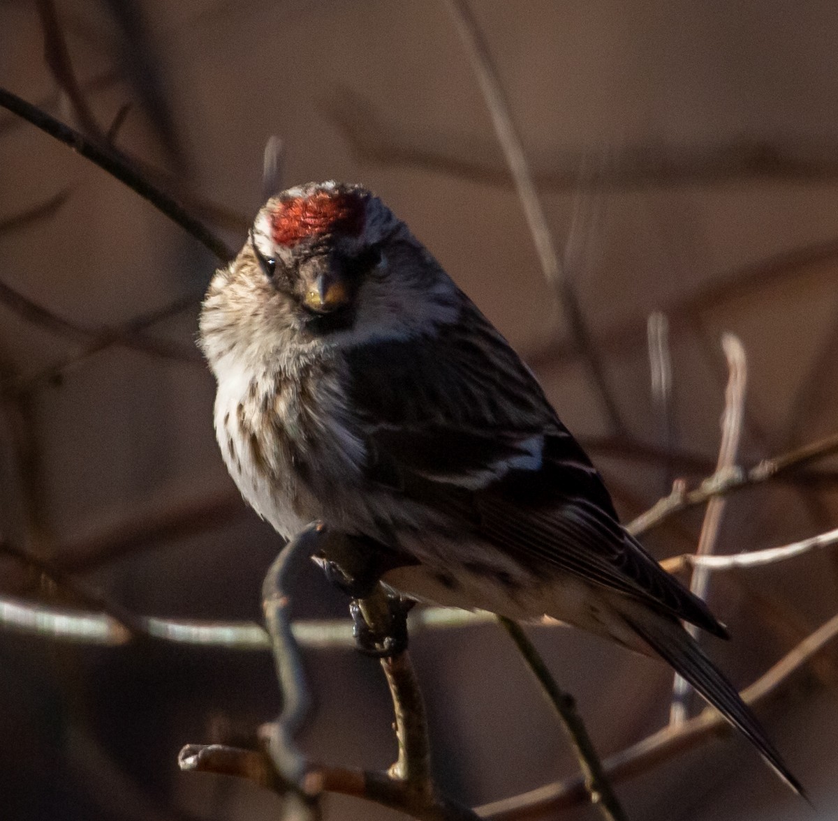
[[[745,412],[745,387],[747,385],[747,360],[742,342],[733,334],[722,336],[722,348],[727,358],[727,389],[725,390],[725,410],[722,414],[722,441],[719,445],[719,458],[716,463],[716,476],[724,476],[735,469],[739,452],[739,439],[742,436],[742,420]],[[709,556],[715,546],[722,525],[727,500],[723,495],[711,496],[707,502],[701,536],[698,539],[698,556]],[[697,565],[690,583],[691,593],[698,598],[707,598],[710,573],[705,567]],[[687,631],[697,640],[698,629],[694,624],[685,625]],[[670,723],[679,724],[686,720],[687,696],[690,685],[683,676],[675,673],[672,685],[672,705]]]

